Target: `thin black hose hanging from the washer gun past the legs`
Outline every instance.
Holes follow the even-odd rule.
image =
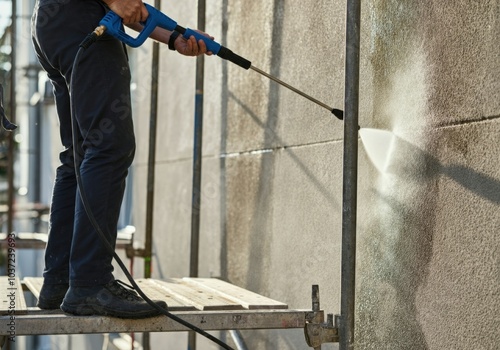
[[[73,98],[74,94],[73,94],[73,83],[75,81],[75,77],[77,76],[77,69],[78,69],[78,63],[79,63],[79,60],[80,60],[80,56],[81,54],[86,50],[88,49],[93,43],[95,43],[98,39],[98,37],[102,35],[102,32],[100,32],[100,29],[97,28],[94,32],[92,32],[91,34],[87,35],[87,37],[82,41],[82,43],[80,44],[80,48],[78,49],[78,52],[75,56],[75,60],[73,62],[73,71],[71,72],[71,83],[70,83],[70,90],[71,90],[71,94],[70,94],[70,98],[71,98],[71,129],[72,129],[72,132],[73,132],[73,154],[74,154],[74,161],[75,161],[75,174],[76,174],[76,181],[77,181],[77,184],[78,184],[78,189],[79,189],[79,192],[80,192],[80,197],[82,199],[82,203],[83,203],[83,207],[85,208],[85,212],[87,213],[87,216],[92,224],[92,227],[96,230],[96,232],[98,233],[98,236],[99,238],[101,239],[103,245],[106,247],[106,249],[108,250],[109,253],[111,253],[113,255],[113,258],[116,260],[116,262],[118,263],[118,265],[120,266],[120,268],[123,270],[123,272],[125,273],[125,275],[127,276],[127,279],[129,280],[130,284],[132,285],[132,287],[136,290],[136,292],[144,299],[144,301],[146,301],[149,305],[151,305],[153,308],[155,308],[156,310],[158,310],[161,314],[171,318],[172,320],[174,320],[175,322],[178,322],[180,323],[181,325],[197,332],[198,334],[210,339],[211,341],[213,341],[214,343],[216,343],[217,345],[221,346],[223,349],[228,349],[228,350],[234,350],[233,348],[231,348],[229,345],[227,345],[226,343],[222,342],[221,340],[215,338],[214,336],[212,336],[211,334],[207,333],[206,331],[204,331],[203,329],[183,320],[182,318],[172,314],[171,312],[169,312],[167,309],[164,309],[162,308],[161,306],[159,306],[158,304],[156,304],[155,302],[153,302],[142,290],[141,288],[137,285],[137,283],[135,282],[134,278],[131,276],[130,272],[127,270],[127,268],[125,267],[125,265],[123,264],[123,261],[120,259],[120,257],[118,256],[118,254],[116,254],[115,250],[113,249],[113,247],[111,246],[111,244],[108,242],[106,236],[104,235],[104,233],[102,232],[102,229],[101,227],[99,226],[99,223],[97,222],[97,220],[95,219],[95,216],[94,216],[94,213],[92,212],[92,209],[90,208],[90,204],[89,204],[89,201],[87,199],[87,196],[86,196],[86,192],[85,192],[85,189],[83,187],[83,183],[81,181],[81,174],[80,174],[80,161],[79,161],[79,155],[78,155],[78,137],[77,137],[77,125],[76,125],[76,107],[75,107],[75,100]]]

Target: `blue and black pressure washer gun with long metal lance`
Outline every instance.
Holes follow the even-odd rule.
[[[104,16],[104,18],[99,22],[99,27],[96,28],[94,31],[95,35],[100,36],[106,31],[108,34],[111,34],[112,36],[116,37],[117,39],[121,40],[125,44],[131,46],[131,47],[138,47],[146,41],[146,39],[149,37],[149,35],[153,32],[153,30],[156,27],[161,27],[169,31],[176,31],[179,32],[184,36],[184,38],[189,39],[191,36],[194,36],[197,40],[203,40],[205,44],[207,45],[207,50],[211,51],[214,55],[219,56],[220,58],[226,59],[241,68],[244,68],[246,70],[252,69],[255,72],[262,74],[266,78],[271,79],[272,81],[292,90],[293,92],[307,98],[308,100],[320,105],[323,108],[328,109],[333,115],[335,115],[338,119],[343,120],[344,119],[344,112],[340,109],[337,108],[332,108],[328,106],[327,104],[318,101],[314,97],[311,97],[307,95],[306,93],[300,91],[299,89],[294,88],[293,86],[281,81],[280,79],[262,71],[261,69],[254,67],[252,65],[252,62],[247,60],[246,58],[243,58],[228,48],[222,46],[221,44],[217,43],[216,41],[204,36],[203,34],[194,31],[189,28],[183,28],[179,25],[177,25],[177,22],[172,20],[171,18],[167,17],[164,13],[161,11],[157,10],[153,6],[149,4],[144,4],[146,6],[146,9],[149,12],[149,16],[146,19],[144,23],[144,28],[142,31],[139,33],[139,35],[134,39],[128,34],[126,34],[123,31],[123,25],[122,25],[122,19],[113,11],[110,11]]]

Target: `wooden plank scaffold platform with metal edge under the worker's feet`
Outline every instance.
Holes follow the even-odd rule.
[[[187,329],[165,316],[142,320],[104,316],[72,316],[60,310],[26,307],[23,287],[38,298],[42,278],[16,280],[15,335],[84,334],[119,332],[178,332]],[[12,335],[12,311],[6,298],[8,277],[0,277],[0,336]],[[151,299],[165,300],[169,311],[205,330],[303,328],[311,310],[289,310],[282,302],[266,298],[219,279],[170,278],[139,279],[137,283]],[[323,317],[323,312],[314,313]]]

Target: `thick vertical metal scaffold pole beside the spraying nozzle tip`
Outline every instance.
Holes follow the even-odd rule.
[[[354,348],[361,0],[347,1],[340,350]]]

